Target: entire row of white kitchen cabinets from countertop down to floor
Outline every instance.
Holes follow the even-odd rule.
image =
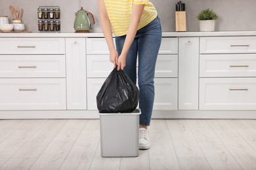
[[[113,69],[102,34],[8,35],[0,119],[98,118]],[[152,118],[256,118],[256,33],[163,33],[154,83]]]

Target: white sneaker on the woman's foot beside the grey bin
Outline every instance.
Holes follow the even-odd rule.
[[[139,128],[139,149],[149,149],[150,148],[150,139],[148,136],[148,130],[140,127]]]

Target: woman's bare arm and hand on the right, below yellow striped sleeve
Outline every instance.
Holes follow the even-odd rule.
[[[119,70],[119,69],[123,70],[125,68],[127,53],[129,51],[129,48],[131,47],[131,44],[133,43],[133,40],[135,39],[135,35],[136,35],[137,29],[139,27],[140,18],[142,16],[144,6],[145,5],[133,4],[133,9],[131,11],[131,23],[130,23],[128,33],[125,38],[125,43],[123,44],[123,50],[121,52],[121,55],[118,58],[117,70]]]

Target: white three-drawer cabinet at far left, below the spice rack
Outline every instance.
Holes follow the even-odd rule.
[[[0,110],[66,110],[65,39],[0,39]]]

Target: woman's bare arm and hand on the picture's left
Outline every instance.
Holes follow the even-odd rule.
[[[116,67],[117,60],[118,60],[118,53],[116,51],[116,47],[114,46],[112,29],[110,25],[110,20],[108,18],[108,13],[106,11],[104,0],[98,0],[98,10],[100,13],[100,23],[101,23],[102,31],[106,39],[106,42],[108,44],[108,50],[110,51],[110,61],[114,64],[114,67]]]

